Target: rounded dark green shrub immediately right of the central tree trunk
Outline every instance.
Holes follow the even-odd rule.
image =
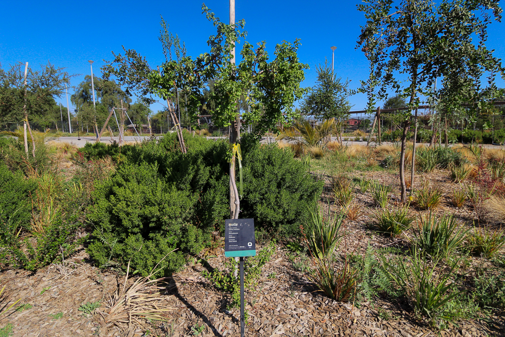
[[[308,216],[306,205],[321,195],[323,182],[276,144],[249,145],[242,155],[241,218],[254,218],[259,229],[280,235],[298,234]]]

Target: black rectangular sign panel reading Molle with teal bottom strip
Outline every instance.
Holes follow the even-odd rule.
[[[256,256],[254,219],[228,219],[225,221],[225,257]]]

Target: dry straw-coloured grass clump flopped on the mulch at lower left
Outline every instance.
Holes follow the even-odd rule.
[[[120,328],[127,325],[130,328],[132,322],[140,323],[140,318],[167,321],[163,313],[174,308],[161,304],[160,301],[164,300],[162,295],[167,291],[168,277],[151,280],[150,278],[159,271],[156,267],[158,265],[149,275],[136,279],[126,288],[130,271],[130,262],[128,262],[123,287],[118,286],[114,295],[109,296],[105,308],[97,310],[107,324],[114,324]],[[164,285],[160,286],[160,284]]]

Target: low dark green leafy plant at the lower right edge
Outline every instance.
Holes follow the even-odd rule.
[[[472,297],[483,309],[505,309],[505,273],[482,273],[474,277]]]

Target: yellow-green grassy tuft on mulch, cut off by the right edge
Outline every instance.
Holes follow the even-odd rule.
[[[466,245],[473,254],[491,259],[505,245],[505,233],[501,229],[479,227],[468,235]]]

